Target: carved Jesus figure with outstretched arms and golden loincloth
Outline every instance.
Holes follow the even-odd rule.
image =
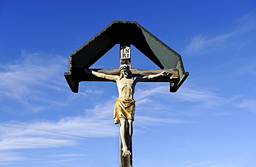
[[[114,124],[120,124],[120,138],[122,142],[122,156],[127,157],[131,155],[129,151],[131,146],[131,137],[133,133],[132,123],[134,121],[135,101],[134,101],[134,88],[138,81],[156,79],[157,77],[167,76],[170,73],[163,71],[156,75],[149,75],[145,77],[134,76],[127,64],[123,64],[119,68],[120,76],[118,75],[106,75],[101,72],[95,72],[90,69],[85,71],[89,74],[95,75],[100,78],[109,79],[115,81],[118,86],[119,97],[116,98],[115,109],[113,112]],[[125,137],[125,133],[128,131],[128,136]]]

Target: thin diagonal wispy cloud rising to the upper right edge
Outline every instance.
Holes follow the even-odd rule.
[[[185,55],[202,55],[206,52],[206,50],[212,50],[212,48],[216,49],[223,46],[223,42],[230,39],[231,37],[255,30],[256,14],[253,12],[247,14],[245,17],[239,18],[237,23],[237,28],[233,28],[231,32],[227,32],[226,34],[217,35],[215,37],[208,37],[208,35],[201,33],[200,35],[192,37],[190,44],[185,48]]]

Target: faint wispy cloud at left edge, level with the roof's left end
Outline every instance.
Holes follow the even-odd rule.
[[[57,74],[62,72],[66,59],[60,56],[50,57],[38,53],[25,53],[25,51],[21,53],[21,57],[23,59],[16,60],[15,63],[2,62],[0,65],[2,68],[0,86],[6,90],[1,89],[4,95],[21,98],[29,95],[28,90],[34,90],[35,85],[52,89],[60,88],[62,76]]]

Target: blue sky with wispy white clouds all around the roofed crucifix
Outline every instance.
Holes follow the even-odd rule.
[[[140,23],[190,72],[176,93],[137,84],[134,166],[256,166],[255,11],[253,0],[0,1],[0,166],[118,166],[116,84],[75,94],[64,79],[68,55],[113,20]],[[93,68],[118,68],[118,50]]]

